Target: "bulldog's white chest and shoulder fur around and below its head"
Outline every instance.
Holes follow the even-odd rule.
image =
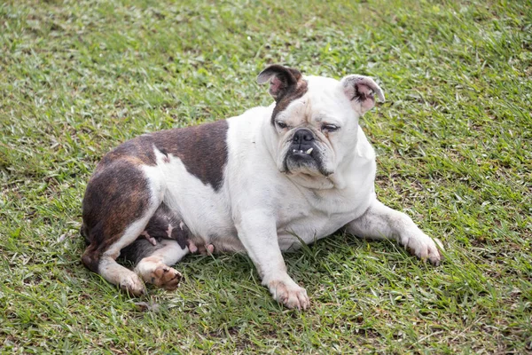
[[[263,134],[260,116],[264,114],[270,114],[269,108],[256,107],[229,120],[225,191],[232,216],[247,209],[273,214],[283,250],[297,248],[300,240],[310,243],[324,238],[360,217],[375,198],[375,154],[364,131],[358,128],[355,153],[338,171],[339,177],[333,175],[326,181],[341,185],[341,189],[309,189],[278,171],[267,149],[268,136]]]

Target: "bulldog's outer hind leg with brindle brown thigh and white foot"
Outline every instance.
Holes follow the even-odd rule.
[[[82,231],[90,242],[83,264],[135,296],[145,292],[144,283],[116,258],[143,233],[160,205],[157,177],[148,172],[131,162],[113,162],[97,170],[83,199]]]

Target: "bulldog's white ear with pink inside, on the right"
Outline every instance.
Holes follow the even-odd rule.
[[[375,106],[375,95],[384,101],[384,92],[369,76],[348,75],[341,79],[344,93],[351,100],[351,106],[365,114]]]

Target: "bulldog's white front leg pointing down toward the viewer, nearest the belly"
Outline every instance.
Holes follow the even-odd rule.
[[[307,291],[286,272],[275,218],[268,211],[246,211],[237,218],[236,226],[239,239],[262,278],[262,285],[268,287],[271,295],[286,307],[307,309],[310,304]]]

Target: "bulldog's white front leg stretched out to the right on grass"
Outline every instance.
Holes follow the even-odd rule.
[[[395,239],[413,254],[432,264],[440,264],[441,255],[436,243],[403,212],[390,209],[377,199],[364,215],[347,225],[347,232],[370,239]],[[437,240],[436,240],[437,241]],[[442,247],[440,241],[437,241]]]

